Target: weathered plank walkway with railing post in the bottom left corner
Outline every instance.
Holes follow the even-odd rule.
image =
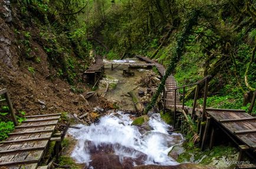
[[[9,137],[5,141],[0,142],[0,168],[47,168],[38,165],[50,141],[57,141],[58,145],[55,144],[57,149],[60,146],[61,137],[55,137],[58,134],[54,132],[61,114],[27,116],[27,120],[19,125],[7,90],[0,90],[1,95],[5,97],[1,101],[6,101],[8,104],[15,130],[8,134]]]

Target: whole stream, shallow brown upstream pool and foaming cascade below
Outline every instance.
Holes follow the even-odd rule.
[[[141,61],[133,58],[115,62]],[[108,111],[97,123],[90,126],[78,124],[80,130],[68,130],[69,135],[77,141],[71,157],[90,169],[179,164],[168,153],[173,146],[182,144],[182,134],[170,132],[172,127],[161,120],[158,113],[150,115],[149,121],[140,127],[131,125],[136,116],[127,113],[135,111],[132,98],[127,96],[127,92],[144,90],[146,93],[140,80],[154,75],[152,69],[132,69],[134,76],[127,77],[122,75],[123,69],[128,69],[127,65],[114,66],[111,70],[108,64],[104,68],[105,77],[100,80],[97,92],[104,93],[106,83],[110,86],[116,83],[116,87],[109,89],[104,97],[117,102],[124,111]]]

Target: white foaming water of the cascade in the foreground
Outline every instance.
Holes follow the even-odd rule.
[[[173,146],[182,143],[181,134],[169,134],[170,126],[160,119],[160,114],[153,114],[148,126],[142,127],[131,126],[132,119],[129,116],[118,111],[101,117],[97,124],[79,124],[80,130],[68,130],[68,133],[77,140],[71,157],[78,163],[86,163],[88,166],[93,151],[99,151],[99,147],[103,145],[112,145],[114,154],[119,156],[121,162],[124,157],[130,157],[139,158],[143,164],[178,164],[168,156],[168,153]],[[94,150],[91,147],[94,147]],[[135,160],[133,165],[139,164]]]

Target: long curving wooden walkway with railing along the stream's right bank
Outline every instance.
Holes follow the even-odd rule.
[[[144,56],[137,58],[145,60],[149,63],[154,63],[161,76],[165,75],[165,67],[154,60]],[[212,109],[206,107],[208,83],[211,76],[206,76],[204,79],[196,83],[180,86],[176,82],[173,75],[168,76],[165,83],[165,90],[162,94],[164,111],[173,111],[173,126],[181,126],[185,117],[191,117],[192,120],[198,121],[198,135],[199,146],[201,150],[205,149],[206,143],[209,148],[214,146],[214,138],[216,136],[217,128],[222,130],[226,136],[231,138],[240,150],[238,161],[242,161],[243,153],[247,153],[253,162],[256,163],[256,117],[251,115],[253,106],[255,104],[256,91],[252,97],[251,106],[248,113],[244,110],[231,109]],[[185,92],[186,88],[196,86],[193,106],[185,106]],[[202,108],[196,108],[199,97],[199,90],[204,89],[204,103]],[[180,102],[179,90],[182,89],[182,102]],[[205,122],[205,123],[201,123]],[[237,165],[237,168],[256,168],[256,165]]]

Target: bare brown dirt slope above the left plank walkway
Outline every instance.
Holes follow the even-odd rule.
[[[90,90],[84,83],[78,85],[83,88],[84,93],[76,94],[71,92],[71,86],[65,80],[54,76],[49,78],[56,71],[48,63],[47,53],[42,46],[33,39],[33,35],[38,33],[37,28],[22,28],[23,25],[15,13],[16,9],[12,8],[8,1],[0,0],[0,89],[8,89],[16,113],[21,110],[29,115],[67,111],[81,115],[92,111],[98,104],[106,108],[104,99],[90,103],[80,96]],[[38,56],[40,62],[22,57],[24,49],[19,43],[20,39],[15,36],[17,29],[31,32],[31,48],[37,49],[32,54]],[[33,67],[34,71],[29,71],[29,67]]]

